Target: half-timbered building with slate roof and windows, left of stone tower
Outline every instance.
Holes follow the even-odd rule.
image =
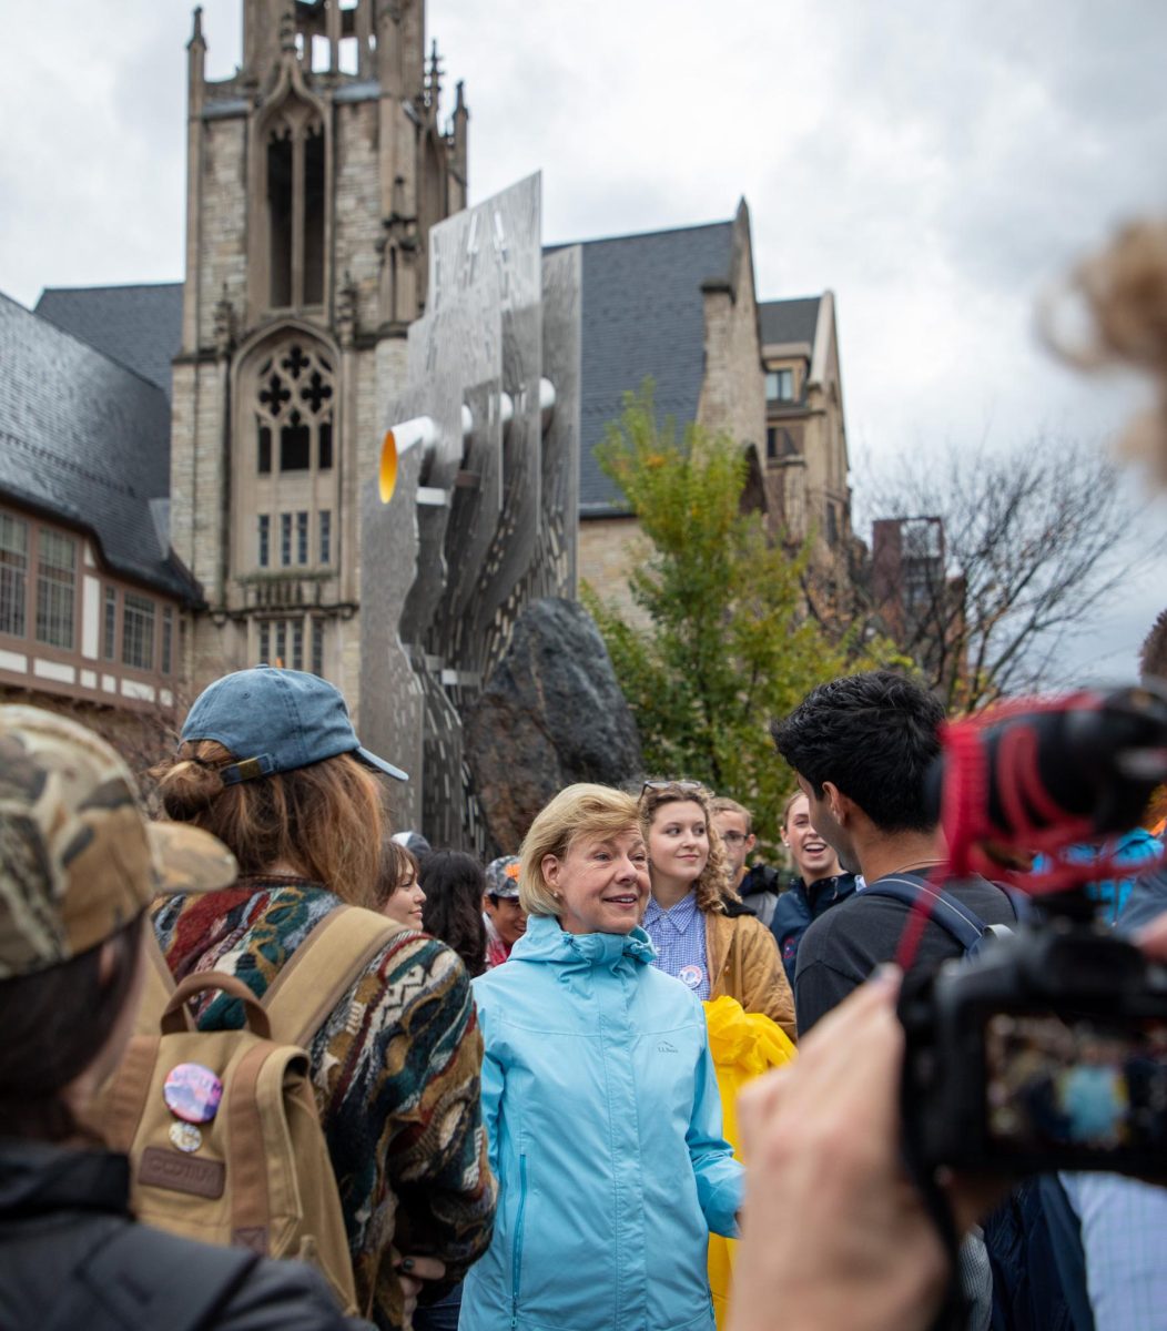
[[[165,717],[200,599],[166,538],[166,398],[5,297],[0,366],[0,695]]]

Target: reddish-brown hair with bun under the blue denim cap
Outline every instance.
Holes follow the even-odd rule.
[[[224,785],[236,761],[216,740],[188,740],[152,771],[166,816],[213,833],[261,874],[285,862],[350,905],[377,908],[385,811],[373,773],[349,753]]]

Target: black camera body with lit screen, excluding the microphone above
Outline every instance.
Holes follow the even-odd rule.
[[[908,989],[901,1020],[926,1170],[1167,1171],[1167,968],[1126,940],[1019,926]]]

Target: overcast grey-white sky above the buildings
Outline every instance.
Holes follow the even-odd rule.
[[[241,8],[205,0],[212,77]],[[570,241],[744,194],[758,295],[836,293],[857,498],[905,450],[1103,441],[1138,402],[1033,322],[1115,224],[1167,209],[1160,0],[431,0],[428,31],[466,81],[475,200],[542,170]],[[189,33],[177,0],[8,7],[0,290],[181,277]],[[1164,527],[1160,500],[1142,530]],[[1159,560],[1070,668],[1130,673],[1164,602]]]

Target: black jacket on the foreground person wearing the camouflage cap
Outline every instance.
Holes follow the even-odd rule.
[[[4,1331],[357,1331],[305,1266],[136,1225],[129,1162],[0,1139]]]

